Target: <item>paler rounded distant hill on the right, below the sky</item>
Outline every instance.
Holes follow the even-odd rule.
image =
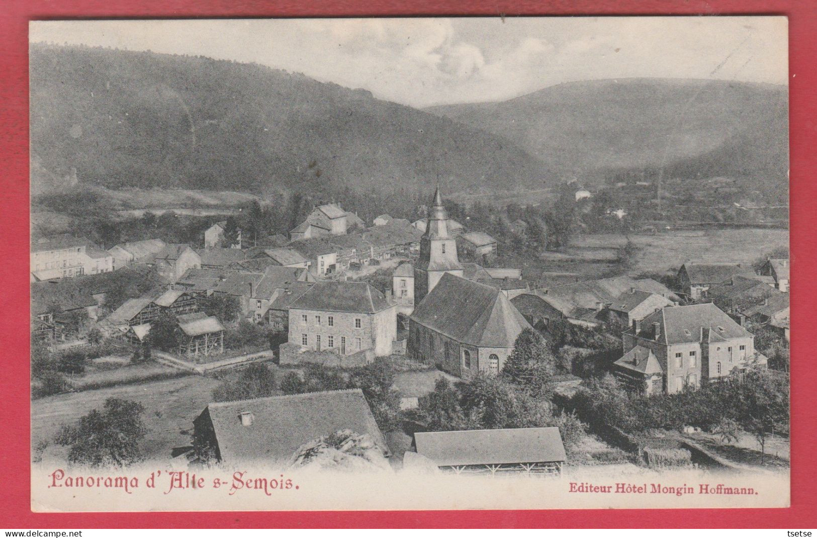
[[[622,78],[427,109],[524,147],[565,174],[664,168],[786,186],[788,93],[760,83]]]

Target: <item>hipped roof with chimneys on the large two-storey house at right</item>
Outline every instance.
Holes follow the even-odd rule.
[[[710,338],[743,338],[752,336],[730,316],[712,303],[666,307],[641,321],[637,336],[654,340],[653,323],[659,323],[659,342],[666,344],[700,342],[709,330]],[[632,327],[627,330],[632,334]]]

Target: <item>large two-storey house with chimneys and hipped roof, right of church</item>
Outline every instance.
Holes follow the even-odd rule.
[[[657,363],[662,392],[670,394],[724,378],[734,370],[745,369],[752,360],[766,362],[766,357],[755,352],[754,336],[712,303],[664,307],[643,321],[634,321],[622,338],[618,374],[629,375],[632,383],[646,383],[646,375],[652,378],[659,374],[654,368]],[[639,361],[650,362],[650,353],[654,356],[647,369],[650,371],[637,374],[625,368],[627,353],[636,347],[641,347],[635,357]],[[657,392],[658,388],[650,385],[650,390]]]

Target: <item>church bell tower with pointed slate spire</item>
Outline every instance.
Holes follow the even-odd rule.
[[[462,276],[462,264],[457,257],[457,240],[449,235],[449,217],[438,185],[428,209],[426,233],[420,240],[420,258],[414,266],[414,303],[419,304],[445,273]]]

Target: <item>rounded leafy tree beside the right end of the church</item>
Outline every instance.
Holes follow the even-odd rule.
[[[530,328],[516,337],[511,356],[502,366],[502,376],[533,397],[547,396],[555,372],[556,357],[542,334]]]

